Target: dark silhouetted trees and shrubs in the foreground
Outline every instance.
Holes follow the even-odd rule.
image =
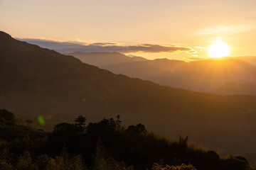
[[[195,147],[188,137],[168,140],[142,124],[125,128],[117,118],[60,123],[53,132],[33,130],[29,121],[0,110],[1,170],[254,169],[244,157],[220,157]]]

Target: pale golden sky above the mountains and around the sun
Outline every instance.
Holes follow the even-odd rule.
[[[230,55],[256,55],[255,0],[0,0],[0,30],[16,38],[193,51],[131,52],[147,58],[208,57],[217,38]]]

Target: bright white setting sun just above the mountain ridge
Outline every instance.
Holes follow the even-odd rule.
[[[208,47],[208,55],[214,58],[220,58],[230,55],[230,49],[225,42],[220,39],[215,40],[210,47]]]

